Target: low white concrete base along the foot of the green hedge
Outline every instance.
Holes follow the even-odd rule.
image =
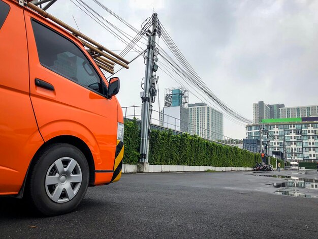
[[[252,171],[253,168],[243,167],[214,167],[214,166],[187,166],[187,165],[149,165],[149,172],[204,172],[212,171]],[[137,165],[123,164],[122,173],[137,173]]]

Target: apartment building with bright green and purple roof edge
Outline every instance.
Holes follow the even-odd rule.
[[[318,117],[263,119],[262,141],[269,154],[282,152],[287,161],[318,161]],[[246,126],[247,139],[260,139],[259,124]]]

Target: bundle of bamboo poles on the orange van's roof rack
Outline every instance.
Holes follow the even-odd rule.
[[[77,37],[83,43],[83,45],[86,48],[88,48],[87,51],[93,57],[94,61],[101,69],[111,74],[114,74],[115,64],[118,64],[126,69],[129,69],[129,66],[128,66],[129,62],[126,59],[122,58],[121,56],[107,49],[102,44],[85,36],[81,32],[74,29],[73,27],[62,22],[61,20],[57,19],[56,17],[52,16],[51,14],[47,13],[46,11],[42,10],[41,8],[37,7],[36,5],[32,3],[27,3],[27,7],[38,12],[43,17],[48,18],[52,20],[53,22],[55,22],[56,24],[62,26],[63,28],[71,32],[72,35]]]

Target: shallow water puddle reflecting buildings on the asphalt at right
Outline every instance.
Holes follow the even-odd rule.
[[[287,195],[292,197],[318,198],[318,180],[312,178],[301,178],[297,175],[272,175],[272,174],[253,174],[255,176],[267,176],[283,178],[281,183],[265,184],[277,188],[275,194]]]

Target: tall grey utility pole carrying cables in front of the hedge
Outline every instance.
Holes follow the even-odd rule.
[[[159,23],[157,14],[152,14],[152,32],[148,30],[146,34],[148,36],[147,45],[147,64],[145,72],[145,83],[144,92],[141,97],[142,108],[141,108],[141,143],[140,143],[140,159],[138,163],[138,172],[148,172],[148,151],[149,151],[149,130],[150,130],[150,115],[151,115],[151,98],[156,95],[155,84],[156,78],[154,73],[157,70],[156,48],[155,48],[155,37],[156,34],[160,36],[158,31]],[[159,109],[160,110],[160,109]]]

